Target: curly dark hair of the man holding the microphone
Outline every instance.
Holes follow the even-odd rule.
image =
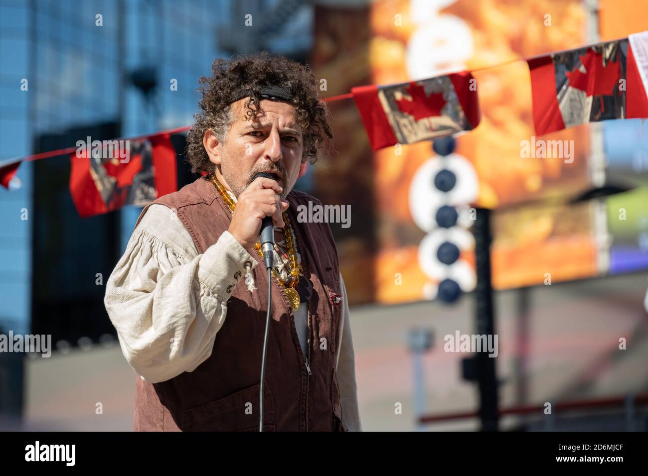
[[[259,112],[259,88],[280,85],[292,94],[295,119],[303,137],[302,162],[310,159],[314,164],[321,156],[324,146],[330,146],[333,135],[329,126],[329,109],[318,98],[317,81],[308,66],[273,56],[268,52],[238,56],[231,60],[218,58],[211,65],[213,75],[202,76],[198,89],[202,99],[198,103],[202,111],[194,115],[196,123],[187,133],[187,161],[191,172],[213,174],[216,166],[209,161],[203,147],[205,131],[211,129],[218,141],[224,141],[233,122],[230,103],[238,91],[251,89],[246,104],[246,117],[254,119]]]

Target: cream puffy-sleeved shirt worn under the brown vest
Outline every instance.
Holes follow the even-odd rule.
[[[245,275],[245,262],[253,268],[258,264],[229,231],[199,255],[173,210],[159,204],[149,207],[108,278],[104,298],[122,353],[143,380],[156,383],[192,372],[211,355],[227,316],[231,295],[227,286],[238,281],[237,271]],[[341,275],[340,284],[344,316],[337,373],[342,421],[349,431],[362,431],[349,304]],[[307,325],[306,306],[299,306],[295,327],[303,350]]]

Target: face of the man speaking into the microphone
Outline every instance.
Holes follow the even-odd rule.
[[[299,177],[303,140],[295,109],[286,102],[262,99],[256,119],[246,119],[248,98],[231,105],[234,120],[223,142],[211,131],[203,145],[216,164],[216,177],[235,196],[252,182],[255,174],[268,172],[281,185],[286,198]]]

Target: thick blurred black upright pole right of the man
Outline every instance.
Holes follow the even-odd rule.
[[[491,210],[476,209],[473,227],[477,273],[476,314],[477,334],[494,336],[494,312],[491,283]],[[494,337],[491,337],[494,339]],[[477,352],[477,381],[480,391],[481,431],[498,430],[498,389],[496,357],[489,352]]]

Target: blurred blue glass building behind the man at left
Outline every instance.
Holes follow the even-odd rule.
[[[268,50],[303,62],[311,21],[299,0],[2,0],[0,166],[87,135],[192,124],[215,58]],[[178,163],[181,186],[193,176]],[[0,334],[52,334],[63,352],[115,339],[98,282],[141,209],[79,218],[65,155],[23,162],[17,177],[17,190],[0,188]],[[21,382],[21,356],[0,355],[0,414],[20,413]]]

